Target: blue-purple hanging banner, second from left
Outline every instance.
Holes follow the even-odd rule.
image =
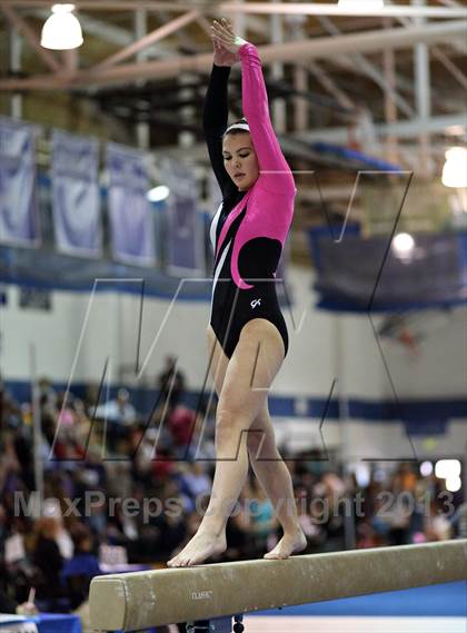
[[[53,131],[52,209],[61,253],[83,257],[102,253],[98,167],[96,140]]]

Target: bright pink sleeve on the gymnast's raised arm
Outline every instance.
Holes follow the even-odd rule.
[[[258,157],[258,185],[276,194],[295,192],[295,181],[269,117],[268,95],[257,48],[247,42],[239,50],[244,116]]]

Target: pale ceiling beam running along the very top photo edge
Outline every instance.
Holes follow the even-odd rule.
[[[50,7],[47,0],[2,0],[4,6],[38,8]],[[411,7],[399,4],[384,7],[382,9],[371,9],[369,7],[342,7],[334,3],[311,3],[311,2],[220,2],[212,7],[212,2],[150,2],[142,0],[115,1],[115,0],[76,0],[74,6],[80,9],[92,9],[93,11],[133,11],[137,9],[148,10],[169,10],[169,11],[190,11],[199,9],[205,13],[256,13],[256,14],[299,14],[299,16],[365,16],[380,18],[397,17],[424,17],[424,18],[465,18],[467,11],[465,7]]]

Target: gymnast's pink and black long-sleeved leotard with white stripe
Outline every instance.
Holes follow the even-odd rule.
[[[225,169],[222,135],[228,119],[230,68],[213,66],[205,99],[203,130],[222,202],[210,226],[215,254],[210,325],[230,358],[244,325],[265,318],[279,330],[287,355],[288,333],[275,276],[294,216],[296,187],[272,130],[258,51],[245,43],[239,57],[244,116],[260,174],[248,191],[239,191]]]

